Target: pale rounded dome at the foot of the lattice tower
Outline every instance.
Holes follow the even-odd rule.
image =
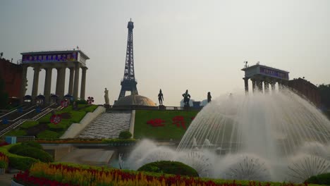
[[[154,101],[147,97],[142,97],[138,94],[132,94],[126,97],[122,97],[114,106],[157,106]]]

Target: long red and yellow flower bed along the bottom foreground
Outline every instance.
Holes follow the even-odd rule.
[[[137,171],[122,171],[119,169],[68,166],[63,164],[35,163],[30,171],[18,173],[14,180],[23,185],[204,185],[204,186],[262,186],[281,185],[295,186],[295,184],[235,181],[235,180],[207,180],[202,178],[188,178],[180,175],[152,175]],[[307,184],[305,184],[307,185]]]

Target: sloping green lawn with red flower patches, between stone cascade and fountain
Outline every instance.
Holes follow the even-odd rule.
[[[152,140],[181,140],[185,130],[188,129],[192,118],[197,115],[198,111],[136,111],[135,113],[135,125],[134,125],[134,138],[142,139],[148,138]],[[183,116],[186,129],[183,126],[173,124],[173,118],[176,116]],[[154,119],[164,120],[161,123],[164,126],[153,127],[149,123],[152,123]],[[157,120],[154,120],[157,123]]]

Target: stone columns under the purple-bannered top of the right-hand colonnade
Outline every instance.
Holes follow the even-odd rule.
[[[288,80],[282,80],[279,78],[271,78],[271,77],[243,77],[244,80],[244,87],[245,92],[249,92],[249,79],[252,81],[252,92],[255,92],[257,89],[258,91],[262,91],[264,83],[264,92],[269,92],[269,85],[272,91],[275,90],[276,82],[279,84],[279,89],[284,86],[288,86]]]

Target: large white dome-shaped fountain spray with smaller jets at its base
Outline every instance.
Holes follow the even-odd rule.
[[[197,114],[176,150],[145,141],[140,158],[133,151],[130,159],[182,161],[211,178],[302,182],[329,171],[329,140],[326,116],[281,89],[219,97]]]

